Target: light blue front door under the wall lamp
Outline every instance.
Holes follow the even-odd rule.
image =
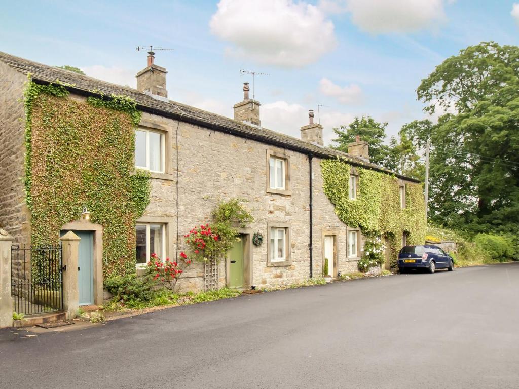
[[[67,231],[61,231],[64,235]],[[77,283],[79,289],[79,305],[94,303],[94,239],[92,231],[73,231],[79,242],[79,258],[77,267]]]

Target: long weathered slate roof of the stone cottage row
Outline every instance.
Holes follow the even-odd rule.
[[[214,131],[227,132],[236,136],[247,139],[256,140],[262,143],[283,147],[293,151],[302,152],[303,154],[312,155],[321,158],[341,158],[347,159],[351,164],[362,166],[376,171],[394,174],[399,178],[406,179],[411,182],[419,182],[418,180],[406,177],[389,171],[382,166],[371,162],[364,161],[361,158],[350,156],[342,151],[333,150],[328,147],[322,147],[305,142],[293,136],[281,134],[266,128],[258,128],[249,124],[227,118],[225,116],[213,114],[202,109],[198,109],[175,101],[162,101],[152,96],[140,92],[136,89],[123,87],[98,80],[92,77],[83,76],[74,72],[69,72],[54,66],[40,64],[38,62],[15,57],[0,51],[0,61],[7,63],[12,68],[23,74],[31,74],[33,81],[47,84],[60,80],[72,86],[67,89],[83,95],[99,95],[93,92],[98,90],[105,95],[122,94],[127,95],[137,102],[140,110],[155,115],[166,116],[176,120],[182,120],[196,124],[197,126],[212,129]]]

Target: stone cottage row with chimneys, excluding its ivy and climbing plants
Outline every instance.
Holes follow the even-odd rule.
[[[311,111],[309,123],[301,128],[298,139],[261,126],[261,104],[250,98],[247,83],[243,85],[242,100],[234,105],[234,119],[230,119],[168,100],[166,73],[149,53],[147,66],[136,75],[137,89],[132,89],[0,53],[0,226],[16,242],[30,243],[35,228],[36,214],[30,211],[24,187],[24,179],[26,182],[30,169],[34,169],[26,170],[28,147],[33,147],[33,159],[50,158],[35,156],[35,134],[29,145],[26,142],[23,97],[28,78],[34,85],[61,85],[67,91],[64,99],[72,104],[65,118],[58,117],[62,114],[59,110],[49,108],[44,117],[33,118],[33,122],[59,119],[66,129],[67,120],[72,123],[77,112],[83,110],[88,115],[89,109],[94,109],[86,105],[92,96],[109,101],[110,96],[124,95],[136,102],[141,115],[131,134],[134,166],[148,172],[151,182],[149,203],[135,225],[130,226],[134,235],[130,234],[129,242],[135,246],[133,263],[137,269],[152,253],[162,259],[176,258],[185,249],[184,234],[210,220],[218,201],[240,198],[247,200],[254,221],[239,230],[237,247],[212,270],[217,274],[213,281],[219,287],[262,288],[302,282],[322,275],[325,258],[329,259],[330,275],[335,277],[340,272],[357,270],[364,238],[361,226],[346,225],[326,196],[321,162],[340,159],[351,166],[347,192],[351,201],[361,196],[363,182],[358,171],[362,169],[394,178],[401,188],[400,198],[393,204],[398,209],[412,201],[406,199],[408,188],[420,186],[412,178],[371,163],[368,144],[360,139],[349,145],[348,154],[324,147],[323,127],[313,121]],[[90,118],[89,123],[94,119]],[[99,135],[95,127],[89,131],[83,141]],[[76,157],[81,159],[80,155]],[[70,182],[63,190],[74,185]],[[56,188],[54,195],[59,197],[59,191]],[[423,202],[414,205],[419,208]],[[33,204],[33,209],[38,206]],[[95,204],[89,204],[88,211],[95,219]],[[88,293],[80,303],[100,304],[109,254],[103,243],[106,246],[108,239],[117,237],[108,237],[101,223],[77,223],[80,213],[78,208],[76,217],[62,220],[54,232],[80,231],[82,242],[91,245],[85,251],[86,257],[80,258],[84,263],[81,269],[90,269],[91,274],[80,279],[88,283]],[[420,218],[423,216],[418,215]],[[263,245],[253,244],[255,233],[265,237]],[[401,230],[393,238],[399,245],[405,244],[411,238],[407,233]],[[423,237],[412,239],[418,242]],[[207,288],[207,271],[202,264],[189,267],[180,281],[181,288]]]

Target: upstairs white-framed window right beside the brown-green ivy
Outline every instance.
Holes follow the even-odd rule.
[[[151,172],[164,172],[165,134],[139,128],[135,130],[135,167]]]

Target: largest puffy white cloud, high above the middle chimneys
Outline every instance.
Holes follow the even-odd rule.
[[[336,46],[324,12],[293,0],[221,0],[210,27],[229,53],[266,65],[303,67]]]

